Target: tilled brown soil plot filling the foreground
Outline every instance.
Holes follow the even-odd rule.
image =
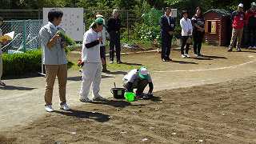
[[[46,114],[0,143],[256,143],[256,76]]]

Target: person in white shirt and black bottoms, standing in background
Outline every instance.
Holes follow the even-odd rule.
[[[190,43],[192,41],[192,32],[193,27],[190,19],[188,18],[188,13],[186,10],[182,10],[182,16],[183,18],[180,20],[180,25],[182,27],[182,47],[181,47],[181,53],[182,58],[190,58],[189,50],[190,50]],[[184,47],[186,46],[185,53],[184,53]]]

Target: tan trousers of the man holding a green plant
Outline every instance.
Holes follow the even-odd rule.
[[[61,105],[66,103],[67,65],[46,65],[46,105],[52,104],[56,76],[58,77],[58,91]]]

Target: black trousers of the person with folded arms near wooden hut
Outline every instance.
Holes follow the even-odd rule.
[[[201,54],[201,47],[202,47],[202,39],[203,39],[203,33],[202,32],[194,32],[193,33],[193,39],[194,39],[194,54]]]

